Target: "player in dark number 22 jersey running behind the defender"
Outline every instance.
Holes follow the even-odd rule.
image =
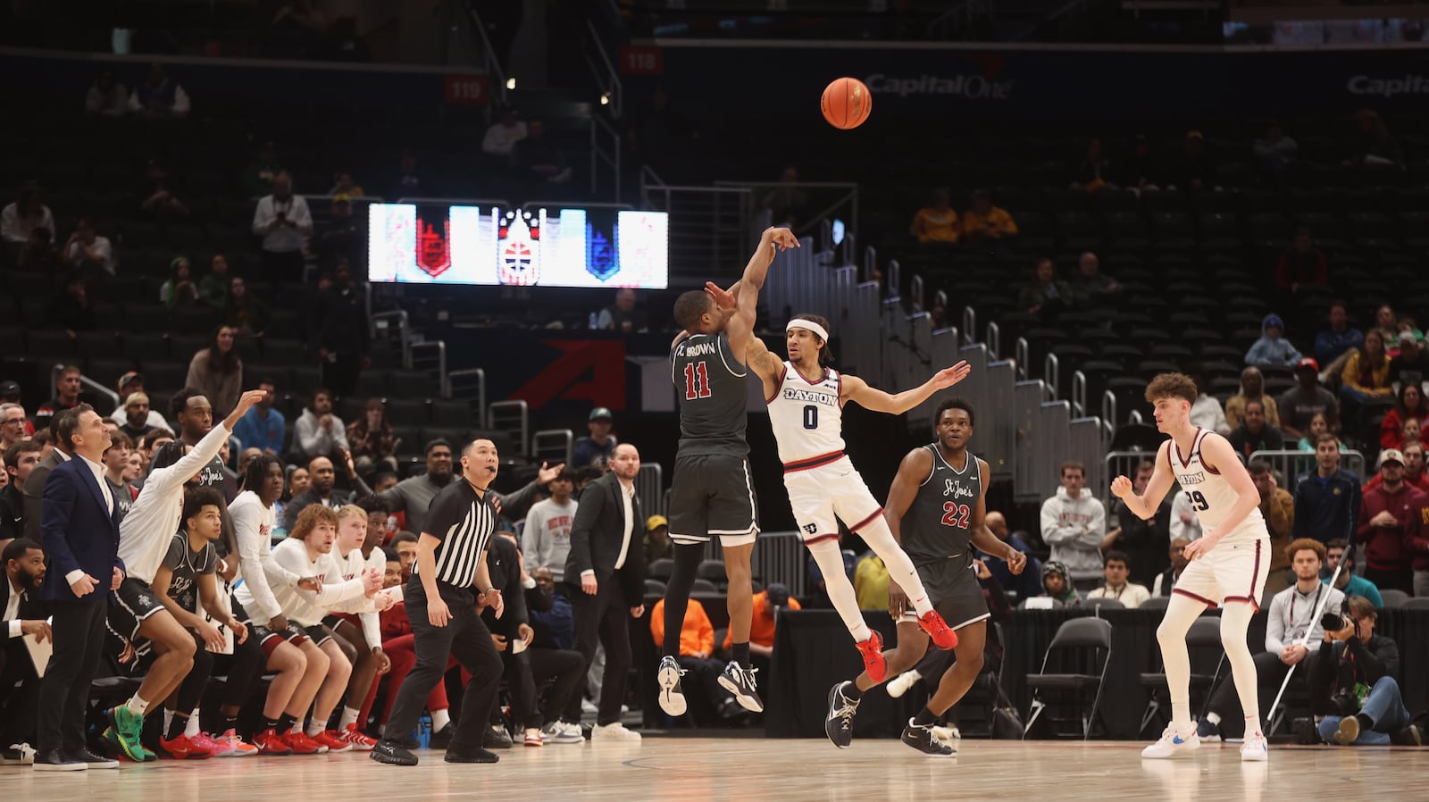
[[[952,758],[957,751],[933,733],[937,718],[967,693],[982,672],[987,640],[987,602],[973,572],[973,548],[1007,560],[1012,573],[1022,573],[1026,556],[993,535],[987,516],[987,463],[967,453],[973,435],[973,409],[962,399],[937,405],[937,440],[909,452],[899,465],[885,505],[889,528],[917,566],[923,588],[947,626],[957,632],[953,653],[957,660],[937,683],[927,705],[909,719],[903,743],[935,758]],[[889,615],[897,622],[897,648],[885,653],[889,676],[916,665],[927,650],[927,633],[917,625],[907,595],[889,583]],[[863,692],[876,682],[867,672],[829,690],[825,733],[835,746],[853,742],[853,715]]]

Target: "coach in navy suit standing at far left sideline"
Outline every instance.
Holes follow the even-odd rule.
[[[44,480],[40,513],[44,553],[50,559],[40,599],[54,616],[54,655],[40,682],[43,712],[36,771],[119,765],[90,753],[84,745],[84,709],[104,646],[109,590],[124,579],[117,506],[104,482],[110,435],[104,419],[89,405],[63,416],[59,436],[73,456]]]

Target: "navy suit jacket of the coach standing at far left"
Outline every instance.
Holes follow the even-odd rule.
[[[124,563],[119,559],[119,518],[104,503],[94,473],[74,456],[50,472],[41,499],[40,533],[50,565],[40,599],[107,603],[114,569],[124,570]],[[93,593],[74,596],[64,575],[76,569],[96,579]]]

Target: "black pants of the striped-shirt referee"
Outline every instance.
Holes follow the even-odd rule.
[[[437,582],[437,590],[452,612],[446,626],[432,626],[427,619],[427,592],[420,578],[413,576],[404,589],[417,665],[397,689],[397,700],[392,706],[392,715],[387,716],[384,736],[403,739],[412,735],[427,693],[432,693],[446,675],[450,655],[472,675],[472,682],[462,696],[462,713],[453,722],[456,729],[452,733],[452,749],[473,752],[482,746],[487,713],[496,703],[496,690],[502,680],[502,655],[492,643],[492,632],[476,612],[476,598],[472,590],[443,582]]]

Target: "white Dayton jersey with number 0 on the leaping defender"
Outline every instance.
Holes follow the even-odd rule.
[[[806,379],[785,362],[779,389],[769,402],[769,426],[779,443],[785,469],[816,459],[843,455],[843,405],[839,390],[843,380],[837,370],[825,369],[823,379]]]

